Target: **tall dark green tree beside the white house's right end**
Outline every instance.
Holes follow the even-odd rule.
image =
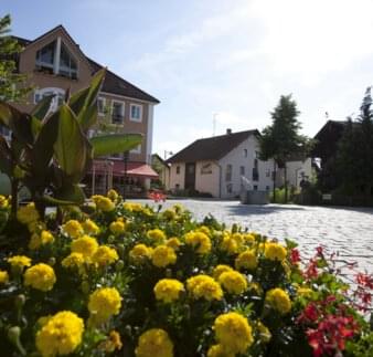
[[[287,182],[287,160],[294,156],[308,151],[309,140],[299,135],[301,124],[298,122],[300,112],[297,108],[297,103],[290,95],[281,95],[278,105],[270,113],[271,125],[264,128],[259,138],[260,159],[274,160],[274,201],[276,201],[276,176],[277,167],[284,168],[285,175],[285,201],[288,199],[288,182]]]

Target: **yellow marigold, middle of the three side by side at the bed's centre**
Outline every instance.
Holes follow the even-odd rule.
[[[194,298],[207,301],[222,300],[223,291],[221,285],[209,275],[195,275],[186,281],[186,288]]]

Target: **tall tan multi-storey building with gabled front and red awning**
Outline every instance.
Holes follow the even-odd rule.
[[[30,112],[44,96],[54,94],[51,111],[63,102],[65,93],[89,85],[92,76],[103,69],[83,53],[63,25],[40,35],[35,40],[14,38],[23,46],[15,57],[19,73],[26,74],[26,85],[35,90],[26,101],[17,105]],[[154,106],[160,102],[111,71],[106,72],[98,96],[98,124],[96,133],[136,133],[143,137],[142,144],[124,155],[97,160],[92,169],[87,186],[95,191],[105,191],[111,186],[137,191],[149,187],[150,179],[158,177],[151,169],[151,149]],[[90,135],[94,133],[89,133]],[[127,182],[124,182],[125,168]],[[90,185],[92,183],[92,185]],[[90,192],[89,192],[90,193]]]

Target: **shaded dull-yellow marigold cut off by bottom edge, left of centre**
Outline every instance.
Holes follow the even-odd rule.
[[[151,328],[140,336],[135,355],[137,357],[173,357],[173,344],[166,330]]]

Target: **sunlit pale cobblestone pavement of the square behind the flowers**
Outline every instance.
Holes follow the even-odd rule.
[[[307,255],[313,254],[315,248],[321,244],[328,252],[338,252],[341,260],[358,261],[359,270],[373,273],[373,209],[246,206],[215,200],[169,200],[163,207],[174,203],[183,204],[198,220],[211,213],[227,225],[238,223],[280,241],[289,238],[297,241]]]

